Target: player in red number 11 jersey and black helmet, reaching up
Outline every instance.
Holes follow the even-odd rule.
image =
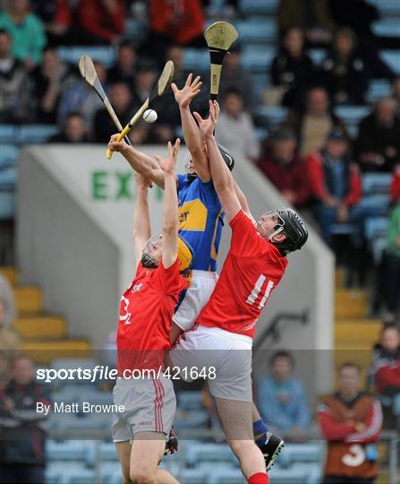
[[[176,367],[216,369],[209,390],[228,443],[248,482],[266,484],[266,465],[252,432],[252,337],[268,296],[285,273],[285,255],[300,249],[308,232],[292,209],[267,212],[257,221],[243,212],[234,179],[217,151],[213,132],[218,113],[217,102],[210,101],[209,119],[194,116],[205,135],[211,177],[232,229],[231,247],[197,324],[183,333],[169,355]]]

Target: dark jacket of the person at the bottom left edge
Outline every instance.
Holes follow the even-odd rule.
[[[13,400],[13,410],[5,410],[6,399]],[[18,385],[12,380],[0,391],[0,462],[45,462],[45,417],[38,413],[37,402],[50,404],[47,391],[36,382]]]

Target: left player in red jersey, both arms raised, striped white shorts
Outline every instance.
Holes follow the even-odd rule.
[[[156,157],[165,174],[163,231],[150,238],[147,192],[149,181],[137,175],[138,198],[133,219],[135,257],[139,264],[131,286],[121,299],[117,331],[118,379],[112,434],[123,469],[123,482],[178,481],[157,468],[166,436],[174,422],[176,399],[171,380],[163,375],[164,356],[174,307],[187,282],[179,273],[178,200],[174,166],[180,140],[169,156]],[[132,445],[131,445],[132,441]]]

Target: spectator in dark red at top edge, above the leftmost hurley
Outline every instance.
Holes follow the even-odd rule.
[[[74,20],[75,44],[117,44],[125,27],[123,0],[80,0]]]

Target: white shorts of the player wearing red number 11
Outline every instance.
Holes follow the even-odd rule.
[[[178,338],[169,354],[174,367],[181,368],[181,377],[190,376],[191,368],[199,373],[206,368],[214,397],[252,402],[251,345],[250,336],[196,324]]]

